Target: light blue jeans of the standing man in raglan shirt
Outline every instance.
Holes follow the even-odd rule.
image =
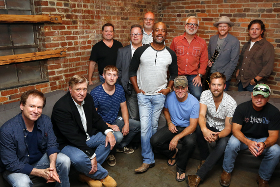
[[[150,138],[158,130],[158,122],[164,107],[166,96],[137,94],[140,124],[141,124],[141,148],[143,163],[154,163],[154,153],[150,144]]]

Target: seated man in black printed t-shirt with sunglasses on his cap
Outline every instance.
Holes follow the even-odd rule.
[[[230,175],[239,150],[248,149],[253,156],[265,155],[259,167],[257,183],[268,187],[275,167],[280,159],[280,147],[276,144],[280,129],[280,111],[267,103],[270,88],[257,84],[252,91],[252,101],[240,104],[232,118],[232,136],[224,152],[224,171],[220,184],[228,187]]]

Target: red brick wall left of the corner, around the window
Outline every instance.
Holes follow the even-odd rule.
[[[140,24],[145,12],[157,12],[157,5],[157,0],[34,0],[36,15],[59,15],[63,20],[62,24],[38,26],[40,50],[66,48],[67,57],[47,61],[48,83],[0,91],[0,105],[19,101],[29,89],[43,93],[66,90],[70,77],[87,76],[91,48],[102,39],[105,23],[115,26],[114,39],[126,46],[130,26]],[[97,69],[92,80],[99,81]]]

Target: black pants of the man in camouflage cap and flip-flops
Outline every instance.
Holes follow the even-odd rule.
[[[168,126],[166,125],[162,129],[160,129],[156,134],[154,134],[151,139],[150,143],[152,144],[153,148],[158,152],[161,153],[168,158],[172,158],[173,155],[176,153],[176,150],[170,151],[169,150],[169,143],[172,138],[181,133],[185,127],[176,127],[178,132],[173,134],[168,130]],[[185,171],[188,160],[190,156],[193,154],[195,147],[196,147],[196,133],[188,134],[185,137],[181,138],[182,140],[182,150],[179,151],[176,155],[177,157],[177,168],[180,171]]]

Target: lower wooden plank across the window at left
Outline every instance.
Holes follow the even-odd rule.
[[[55,58],[55,57],[65,57],[65,56],[66,56],[66,49],[36,52],[36,53],[13,54],[7,56],[0,56],[0,65],[27,62],[32,60],[41,60],[47,58]]]

